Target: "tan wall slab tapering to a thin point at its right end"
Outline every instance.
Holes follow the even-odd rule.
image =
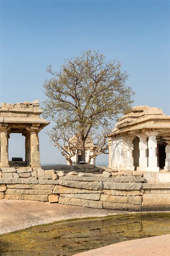
[[[60,185],[56,185],[55,189],[53,190],[54,194],[62,194],[62,193],[101,193],[101,190],[90,190],[90,189],[83,189],[83,188],[71,188],[71,187],[64,187]]]

